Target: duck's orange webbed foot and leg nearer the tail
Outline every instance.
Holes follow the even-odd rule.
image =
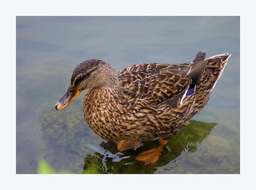
[[[156,161],[159,159],[159,156],[161,152],[164,149],[164,145],[167,143],[167,140],[160,138],[159,139],[160,146],[157,149],[147,150],[144,152],[141,152],[136,159],[138,161],[142,161],[145,163],[145,165],[150,163],[156,163]]]

